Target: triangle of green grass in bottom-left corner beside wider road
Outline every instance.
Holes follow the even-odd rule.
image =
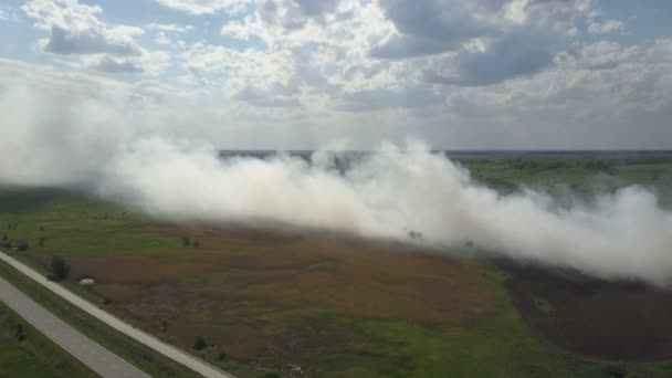
[[[17,335],[22,330],[22,339]],[[0,303],[0,377],[97,377]]]

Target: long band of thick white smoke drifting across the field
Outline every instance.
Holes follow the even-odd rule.
[[[642,188],[560,208],[534,191],[498,196],[421,145],[384,146],[346,172],[324,153],[311,162],[222,159],[208,144],[132,129],[138,119],[96,103],[18,113],[34,101],[0,98],[2,182],[84,185],[175,221],[274,221],[397,240],[414,230],[429,246],[471,242],[600,277],[672,276],[672,213]]]

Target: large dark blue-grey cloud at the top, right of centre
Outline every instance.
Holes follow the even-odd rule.
[[[421,57],[424,80],[491,85],[537,74],[553,64],[563,39],[577,33],[588,0],[379,0],[396,32],[371,49],[375,57]],[[430,55],[437,55],[431,57]]]

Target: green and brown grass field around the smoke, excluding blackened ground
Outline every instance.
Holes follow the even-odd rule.
[[[670,202],[672,164],[466,161],[506,192],[589,200],[628,183]],[[129,322],[241,377],[665,377],[672,365],[579,358],[537,336],[495,266],[407,246],[240,225],[165,224],[72,191],[0,190],[20,259]],[[40,238],[44,245],[39,246]],[[189,245],[183,245],[183,239]],[[198,246],[195,246],[198,241]],[[1,267],[1,266],[0,266]],[[0,269],[0,274],[11,274]],[[96,285],[75,284],[93,276]],[[546,313],[558,305],[544,297]],[[208,345],[192,349],[202,336]]]

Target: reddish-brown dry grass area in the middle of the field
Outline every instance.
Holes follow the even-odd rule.
[[[338,353],[357,336],[334,316],[466,324],[496,306],[487,267],[408,246],[243,228],[153,232],[175,234],[176,245],[188,233],[201,246],[71,258],[71,277],[91,275],[94,294],[114,308],[150,325],[168,322],[168,335],[183,344],[207,335],[239,360],[283,360],[296,349],[314,358]],[[311,308],[330,315],[311,316]],[[306,312],[301,324],[273,329],[279,322],[265,321],[292,312]]]

